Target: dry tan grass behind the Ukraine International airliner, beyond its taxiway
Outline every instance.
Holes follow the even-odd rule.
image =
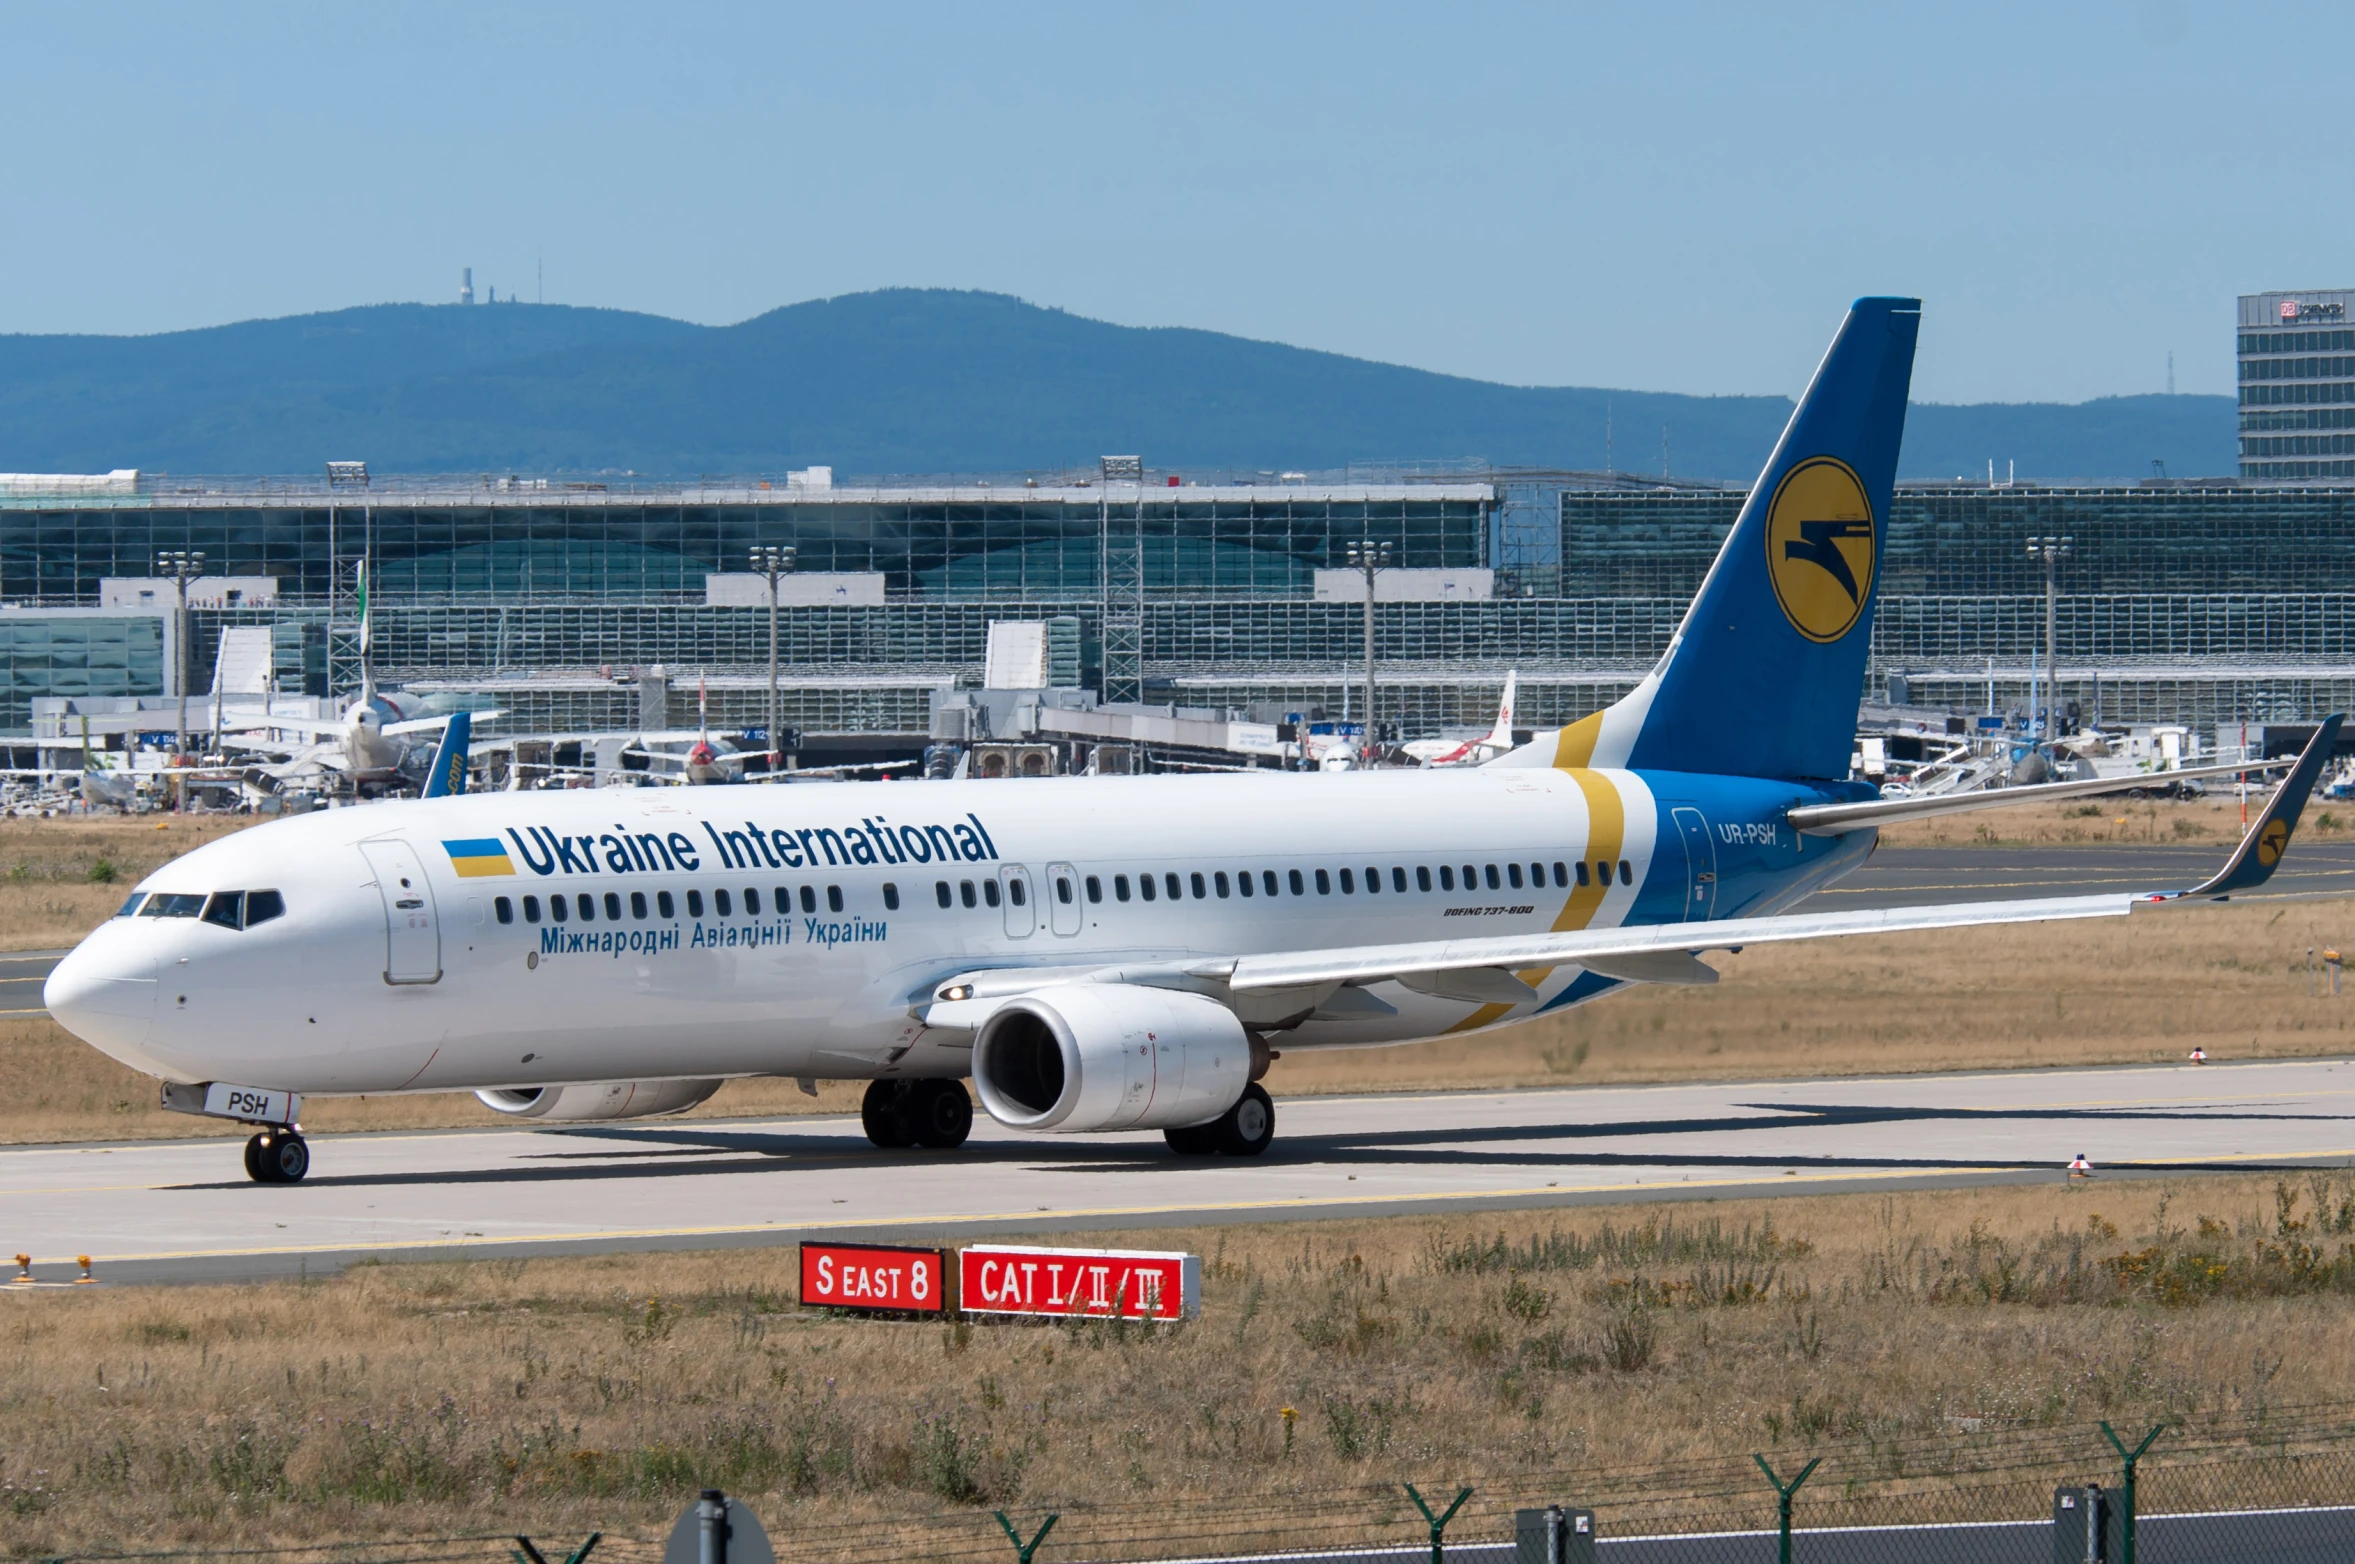
[[[2084,820],[2070,808],[1995,810],[2002,841],[2214,841],[2237,834],[2237,806],[2157,803]],[[2115,824],[2120,815],[2127,824]],[[2320,810],[2329,815],[2329,810]],[[2315,834],[2355,829],[2341,817]],[[120,902],[127,883],[228,820],[0,822],[0,947],[66,945]],[[1969,820],[1903,827],[1893,843],[1985,841]],[[2077,831],[2079,836],[2070,836]],[[113,883],[89,883],[97,862]],[[1470,1039],[1406,1048],[1302,1053],[1269,1074],[1281,1093],[1434,1086],[1623,1083],[2134,1065],[2178,1060],[2195,1043],[2214,1060],[2334,1055],[2355,1048],[2355,987],[2308,992],[2306,952],[2355,947],[2355,902],[2152,912],[2065,928],[1983,928],[1889,935],[1712,956],[1710,989],[1648,987],[1575,1013]],[[2195,980],[2193,980],[2195,978]],[[45,1018],[0,1018],[0,1093],[16,1112],[0,1140],[97,1140],[224,1133],[155,1107],[153,1081],[82,1048]],[[805,1098],[791,1081],[732,1081],[695,1116],[853,1112],[860,1088],[827,1083]],[[490,1124],[471,1095],[316,1100],[313,1131]]]

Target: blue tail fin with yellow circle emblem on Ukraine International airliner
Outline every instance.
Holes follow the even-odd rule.
[[[1667,655],[1500,766],[1849,773],[1919,330],[1919,299],[1849,306]]]

